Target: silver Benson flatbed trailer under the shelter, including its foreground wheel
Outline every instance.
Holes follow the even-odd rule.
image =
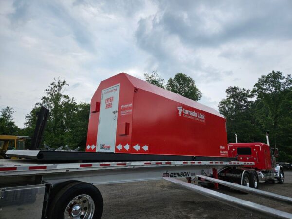
[[[198,176],[216,177],[216,172],[226,167],[237,168],[249,165],[254,165],[254,162],[197,160],[78,162],[76,160],[70,163],[56,163],[37,159],[1,160],[0,218],[101,218],[103,199],[96,187],[98,184],[187,178],[189,186],[195,186],[190,183],[198,179]],[[234,201],[228,202],[228,198],[218,198],[222,196],[216,191],[211,192],[213,195],[204,190],[200,190],[200,193],[234,205]],[[246,204],[244,201],[242,203],[245,205],[240,205],[240,201],[237,200],[235,207],[249,209],[247,206],[250,203]],[[262,214],[262,209],[265,210],[265,215],[292,218],[292,214],[263,208],[262,205],[256,205],[249,210]]]

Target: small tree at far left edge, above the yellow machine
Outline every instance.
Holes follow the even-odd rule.
[[[14,113],[11,107],[5,107],[0,111],[0,134],[17,135],[19,128],[15,125],[12,115]]]

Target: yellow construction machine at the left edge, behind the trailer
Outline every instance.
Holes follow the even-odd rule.
[[[0,135],[0,159],[8,158],[7,150],[25,150],[25,139],[27,136]]]

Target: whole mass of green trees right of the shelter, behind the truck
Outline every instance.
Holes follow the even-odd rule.
[[[262,75],[252,91],[229,87],[219,103],[227,120],[228,141],[264,142],[270,131],[270,145],[280,148],[279,160],[292,161],[292,78],[279,71]],[[253,99],[252,99],[253,98]]]

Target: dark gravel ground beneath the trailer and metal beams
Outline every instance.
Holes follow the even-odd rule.
[[[165,180],[99,185],[104,219],[263,219]],[[260,183],[259,189],[292,197],[292,171],[284,184]],[[292,213],[292,206],[221,188],[219,192]]]

